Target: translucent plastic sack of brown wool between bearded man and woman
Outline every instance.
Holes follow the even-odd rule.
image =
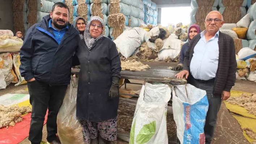
[[[61,144],[89,144],[84,142],[82,126],[76,117],[78,78],[71,78],[63,104],[57,115],[57,134]]]

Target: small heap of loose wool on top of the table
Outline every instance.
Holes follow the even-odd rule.
[[[150,69],[149,65],[144,65],[141,62],[136,60],[127,60],[121,61],[122,70],[131,70],[131,71],[145,71],[146,69]]]

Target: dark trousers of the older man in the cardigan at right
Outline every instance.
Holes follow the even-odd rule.
[[[217,114],[221,107],[221,95],[213,95],[214,79],[198,80],[191,76],[190,84],[201,90],[205,90],[209,102],[208,112],[206,114],[204,134],[205,143],[210,144],[214,134],[214,127],[217,122]]]

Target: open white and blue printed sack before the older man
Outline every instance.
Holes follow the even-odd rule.
[[[181,144],[204,144],[204,125],[208,111],[206,91],[191,84],[174,86],[172,110]]]

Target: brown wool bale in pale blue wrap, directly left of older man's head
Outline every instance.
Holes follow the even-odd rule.
[[[212,6],[201,6],[201,7],[192,9],[190,14],[191,23],[204,22],[207,14],[213,10],[218,10],[218,9]]]

